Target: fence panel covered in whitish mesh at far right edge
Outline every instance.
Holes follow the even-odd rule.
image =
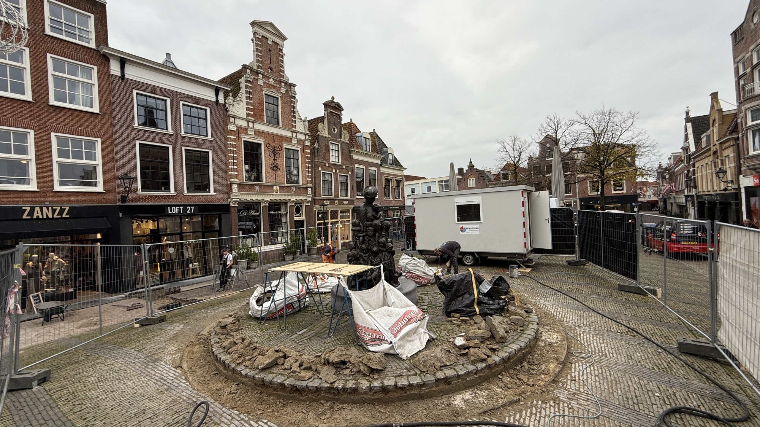
[[[719,223],[717,337],[760,378],[760,230]]]

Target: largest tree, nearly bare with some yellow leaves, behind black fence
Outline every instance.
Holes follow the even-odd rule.
[[[638,112],[611,108],[588,114],[576,112],[572,119],[578,174],[596,180],[599,204],[605,210],[605,187],[613,182],[650,175],[657,158],[657,144],[638,128]]]

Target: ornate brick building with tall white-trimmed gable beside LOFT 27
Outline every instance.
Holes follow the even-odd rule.
[[[251,28],[252,61],[220,79],[231,87],[224,91],[230,223],[237,235],[263,232],[262,244],[277,248],[287,230],[315,225],[311,147],[285,74],[287,37],[268,21]]]

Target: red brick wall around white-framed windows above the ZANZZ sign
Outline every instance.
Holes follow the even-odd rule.
[[[106,5],[94,0],[61,0],[94,15],[95,41],[108,44]],[[34,131],[38,191],[0,190],[0,204],[114,204],[118,199],[111,132],[109,61],[97,49],[45,34],[44,2],[27,1],[30,82],[33,102],[0,96],[0,125]],[[47,53],[97,67],[100,114],[49,105]],[[51,132],[100,138],[102,192],[53,191]]]

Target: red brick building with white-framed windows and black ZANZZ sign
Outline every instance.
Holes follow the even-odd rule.
[[[29,40],[0,55],[0,244],[120,243],[106,2],[10,3]]]

